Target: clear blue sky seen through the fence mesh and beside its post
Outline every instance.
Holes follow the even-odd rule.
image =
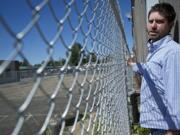
[[[32,0],[32,5],[37,5],[42,0]],[[122,17],[124,20],[125,26],[125,34],[127,38],[127,43],[129,47],[132,47],[132,32],[131,32],[131,22],[125,17],[126,13],[131,11],[130,8],[131,0],[119,0],[120,8],[122,12]],[[65,14],[65,6],[62,0],[52,0],[51,4],[53,6],[54,12],[58,18],[62,18]],[[77,1],[78,9],[82,12],[83,3],[81,0]],[[73,17],[71,17],[71,21],[73,21],[73,26],[78,25],[78,15],[75,12],[75,8],[71,11],[73,13]],[[43,10],[41,10],[41,19],[38,21],[41,31],[43,32],[45,39],[51,41],[57,33],[57,22],[53,18],[51,12],[49,11],[48,6],[45,6]],[[4,20],[6,20],[7,24],[10,26],[12,31],[16,34],[23,30],[23,28],[32,21],[32,10],[30,6],[28,6],[26,0],[0,0],[0,16],[3,16]],[[92,15],[90,15],[92,16]],[[90,19],[90,18],[89,18]],[[87,22],[84,21],[82,26],[86,26]],[[66,55],[67,47],[71,44],[73,39],[73,32],[69,25],[64,25],[64,30],[62,31],[62,36],[66,35],[67,37],[63,37],[65,40],[65,44],[62,44],[62,41],[58,40],[54,44],[54,52],[53,58],[55,60],[64,58]],[[48,26],[48,27],[47,27]],[[83,27],[84,31],[87,31],[87,27]],[[82,33],[78,34],[77,41],[83,42],[84,35]],[[8,40],[7,40],[8,39]],[[14,50],[14,42],[15,39],[5,30],[4,26],[0,23],[0,60],[7,59],[10,53]],[[46,59],[48,52],[48,45],[43,41],[39,32],[35,27],[23,38],[23,49],[22,53],[29,60],[31,64],[41,63]],[[66,46],[67,44],[67,46]],[[59,51],[60,50],[60,51]],[[21,57],[18,56],[16,59],[21,60]]]

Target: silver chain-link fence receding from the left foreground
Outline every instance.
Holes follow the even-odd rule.
[[[118,1],[0,5],[0,134],[129,135]]]

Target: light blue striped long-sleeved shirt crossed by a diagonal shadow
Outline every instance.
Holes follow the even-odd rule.
[[[133,65],[142,75],[140,124],[180,129],[180,45],[170,35],[148,43],[146,63]]]

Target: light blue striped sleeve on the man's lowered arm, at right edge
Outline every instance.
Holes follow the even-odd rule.
[[[167,56],[164,65],[164,85],[168,111],[180,126],[180,51]]]

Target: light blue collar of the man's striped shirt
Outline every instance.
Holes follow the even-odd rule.
[[[160,40],[155,41],[155,42],[152,42],[152,40],[148,40],[148,51],[149,52],[154,52],[159,47],[164,46],[165,45],[164,43],[168,42],[171,39],[172,39],[171,35],[168,34],[165,37],[163,37]]]

